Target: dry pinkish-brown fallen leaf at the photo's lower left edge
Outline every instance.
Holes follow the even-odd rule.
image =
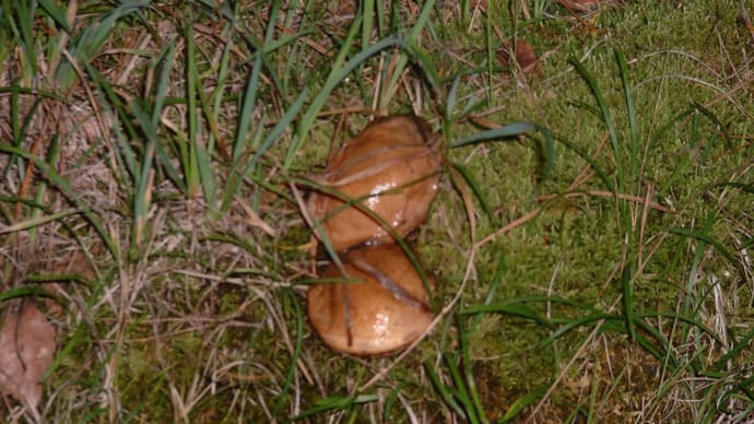
[[[55,328],[33,303],[9,314],[0,327],[0,392],[37,411],[55,349]]]

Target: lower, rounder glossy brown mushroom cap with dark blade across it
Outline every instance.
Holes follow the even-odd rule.
[[[344,268],[361,282],[322,283],[308,292],[309,320],[332,350],[382,355],[411,344],[429,326],[433,315],[427,293],[400,246],[353,249]],[[330,264],[322,276],[343,274]]]

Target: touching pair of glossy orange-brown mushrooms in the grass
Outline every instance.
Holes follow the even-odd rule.
[[[328,189],[314,192],[307,207],[343,264],[328,266],[322,276],[350,279],[317,284],[307,295],[309,320],[331,349],[387,354],[432,321],[428,294],[393,235],[404,237],[426,220],[437,195],[439,144],[420,117],[378,118],[313,178]]]

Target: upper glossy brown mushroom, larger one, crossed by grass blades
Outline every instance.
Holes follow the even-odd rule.
[[[369,123],[332,155],[313,178],[347,199],[356,199],[401,236],[421,225],[437,195],[441,155],[438,133],[414,115],[396,115]],[[386,228],[335,196],[314,192],[311,215],[322,221],[335,250],[369,243],[392,243]]]

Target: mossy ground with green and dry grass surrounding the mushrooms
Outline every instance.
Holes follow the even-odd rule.
[[[63,269],[85,283],[49,288],[66,306],[50,307],[60,348],[39,407],[49,420],[752,413],[754,15],[745,1],[604,1],[580,12],[564,4],[584,2],[439,2],[426,17],[413,2],[367,1],[381,12],[366,15],[349,2],[155,3],[134,5],[103,38],[85,32],[125,7],[52,3],[59,10],[31,16],[28,5],[0,9],[0,212],[3,226],[28,223],[0,233],[9,259],[0,293],[60,273],[49,264],[69,251],[90,263]],[[70,38],[59,22],[66,8]],[[329,91],[341,51],[356,60],[396,35],[403,49],[363,57]],[[510,38],[533,47],[541,73],[500,64]],[[68,63],[60,46],[75,76],[58,70]],[[295,200],[301,177],[374,108],[420,113],[448,143],[415,246],[439,282],[437,304],[450,307],[400,362],[337,354],[305,316],[316,275]],[[555,136],[551,172],[542,133],[449,149],[485,122],[514,121]],[[37,170],[24,188],[30,157],[57,174]],[[479,182],[490,213],[450,164]],[[80,212],[34,221],[69,209]],[[3,420],[27,413],[10,399],[2,408]]]

